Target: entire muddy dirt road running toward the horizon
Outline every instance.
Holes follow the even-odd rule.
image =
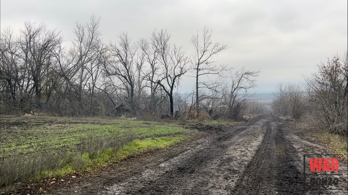
[[[199,127],[194,141],[119,163],[48,194],[346,194],[303,190],[303,153],[324,149],[264,114],[238,126]],[[324,152],[325,153],[325,152]],[[329,153],[329,152],[328,152]],[[340,188],[347,189],[347,165]]]

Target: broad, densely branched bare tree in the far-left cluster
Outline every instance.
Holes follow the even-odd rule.
[[[19,40],[19,47],[22,50],[20,56],[29,73],[27,89],[29,94],[35,94],[36,108],[41,108],[41,97],[47,89],[45,84],[49,83],[47,75],[51,70],[49,67],[52,67],[52,53],[60,47],[61,43],[60,32],[48,30],[43,23],[24,23]]]

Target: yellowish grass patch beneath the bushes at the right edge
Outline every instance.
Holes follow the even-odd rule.
[[[322,142],[326,143],[329,146],[329,150],[331,150],[335,154],[342,154],[343,159],[348,161],[348,139],[347,137],[342,137],[339,135],[333,135],[330,133],[319,133],[315,134],[316,137],[319,137]]]

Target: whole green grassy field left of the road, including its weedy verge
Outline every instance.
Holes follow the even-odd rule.
[[[116,118],[0,116],[1,186],[96,170],[165,148],[194,130],[178,123]]]

